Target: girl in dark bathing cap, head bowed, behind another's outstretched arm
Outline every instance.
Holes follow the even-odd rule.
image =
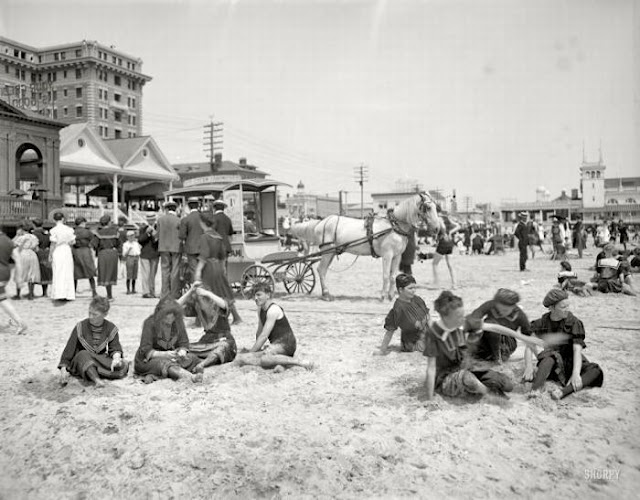
[[[520,330],[524,335],[531,334],[529,318],[518,306],[520,296],[507,288],[500,288],[489,300],[475,309],[469,318],[502,325],[511,330]],[[483,332],[482,338],[475,346],[475,355],[487,361],[502,363],[509,359],[518,347],[516,339],[494,332]]]

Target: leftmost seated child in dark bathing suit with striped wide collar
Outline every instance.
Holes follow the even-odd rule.
[[[109,301],[94,297],[89,304],[89,317],[78,323],[62,352],[58,368],[60,383],[66,385],[69,375],[89,380],[103,387],[103,378],[127,376],[129,364],[122,359],[118,327],[107,321]]]

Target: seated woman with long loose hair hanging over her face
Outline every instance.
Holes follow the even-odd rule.
[[[171,296],[160,299],[154,313],[144,320],[134,369],[145,382],[158,378],[178,380],[191,377],[202,382],[200,359],[189,352],[182,306]]]

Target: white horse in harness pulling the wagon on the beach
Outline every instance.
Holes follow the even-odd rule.
[[[310,243],[320,247],[322,255],[318,276],[322,297],[331,300],[326,275],[336,254],[348,252],[355,255],[382,257],[382,290],[380,299],[393,299],[394,274],[398,271],[400,257],[407,247],[407,234],[422,222],[436,230],[441,222],[436,202],[427,193],[416,193],[398,205],[390,218],[375,217],[367,231],[365,221],[341,215],[322,219],[313,229]],[[293,229],[293,227],[292,227]],[[334,251],[331,251],[334,249]]]

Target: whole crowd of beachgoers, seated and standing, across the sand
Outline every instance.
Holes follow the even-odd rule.
[[[190,198],[187,206],[188,214],[179,217],[177,204],[168,201],[162,214],[149,217],[137,229],[127,226],[126,219],[112,224],[108,215],[93,230],[87,228],[82,217],[71,227],[64,215],[56,212],[53,227],[33,220],[25,221],[13,240],[0,233],[0,305],[17,325],[18,333],[24,333],[26,325],[6,300],[12,261],[15,300],[24,297],[21,293],[25,285],[26,298],[33,300],[35,285],[40,285],[41,296],[47,296],[50,287],[54,304],[63,305],[75,299],[79,280],[89,281],[92,299],[88,316],[73,328],[60,358],[58,367],[63,385],[72,375],[101,387],[103,379],[126,377],[130,364],[134,374],[145,383],[159,378],[201,382],[205,368],[229,362],[276,370],[313,366],[312,362],[295,356],[297,340],[293,328],[283,308],[273,301],[273,290],[264,283],[253,290],[258,308],[255,342],[238,350],[231,327],[242,319],[227,279],[233,227],[224,213],[225,203],[216,200],[209,209],[200,207],[197,198]],[[459,224],[446,214],[440,217],[433,254],[434,280],[437,281],[437,267],[444,260],[454,289],[455,274],[449,257],[456,241],[468,244],[469,252],[480,231],[469,224]],[[594,276],[590,281],[581,281],[567,260],[567,237],[559,230],[561,226],[561,218],[555,217],[550,255],[560,261],[558,282],[542,301],[549,312],[534,321],[529,321],[518,305],[518,293],[505,288],[470,314],[465,314],[461,297],[453,291],[444,291],[434,301],[438,318],[432,318],[426,302],[416,294],[411,264],[419,253],[419,244],[416,234],[411,232],[401,272],[396,277],[398,297],[385,318],[385,333],[377,353],[389,352],[394,332],[400,329],[401,351],[421,352],[426,357],[428,400],[436,392],[450,397],[492,393],[506,397],[517,381],[501,372],[499,366],[514,353],[518,340],[526,345],[523,381],[531,382],[533,395],[542,390],[546,380],[560,384],[552,391],[556,399],[585,387],[601,386],[602,370],[582,353],[586,347],[585,328],[570,311],[568,292],[635,294],[631,271],[640,267],[640,252],[635,249],[631,260],[629,252],[616,255],[615,239],[610,236],[596,258]],[[628,235],[623,235],[627,233],[620,231],[620,225],[617,228],[621,244],[626,243]],[[501,229],[496,227],[494,231],[494,236],[499,237],[494,238],[494,243],[498,240],[504,243]],[[583,231],[581,221],[577,221],[574,242],[578,248],[584,248],[586,242]],[[526,271],[531,247],[544,251],[539,227],[528,221],[525,213],[519,214],[513,236],[519,251],[519,268]],[[498,250],[502,245],[495,243],[494,247]],[[158,298],[155,290],[158,268],[161,272],[160,300],[143,323],[140,345],[132,362],[125,359],[118,327],[106,319],[119,268],[126,274],[126,293],[136,294],[139,282],[144,298]],[[105,287],[105,297],[98,294],[97,286]],[[203,329],[197,342],[190,342],[187,336],[184,320],[187,315],[195,316],[195,324]]]

